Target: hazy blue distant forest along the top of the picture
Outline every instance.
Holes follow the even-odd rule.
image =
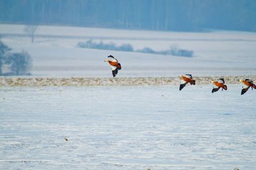
[[[0,22],[161,31],[256,31],[256,0],[0,0]]]

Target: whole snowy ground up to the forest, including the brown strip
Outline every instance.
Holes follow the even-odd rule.
[[[256,33],[39,26],[31,43],[23,29],[0,24],[33,58],[30,77],[0,78],[0,169],[256,169],[256,92],[235,84],[256,81]],[[195,56],[76,47],[90,39]],[[179,91],[184,73],[196,86]],[[228,90],[212,94],[220,76]]]

